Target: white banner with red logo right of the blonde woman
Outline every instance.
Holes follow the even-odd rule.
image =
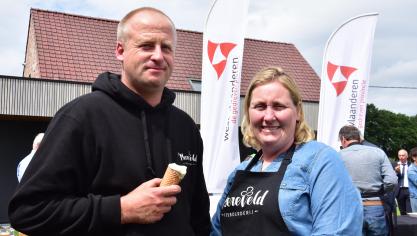
[[[321,72],[317,140],[339,150],[339,130],[365,130],[372,45],[378,14],[354,17],[327,41]]]

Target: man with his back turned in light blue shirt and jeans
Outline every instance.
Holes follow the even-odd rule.
[[[387,155],[379,148],[362,145],[360,131],[354,126],[343,126],[339,139],[342,160],[362,196],[363,235],[388,235],[381,198],[394,190],[397,177]]]

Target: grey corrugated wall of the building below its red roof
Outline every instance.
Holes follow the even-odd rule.
[[[52,117],[67,102],[91,91],[85,83],[0,76],[0,115]],[[174,105],[200,123],[200,93],[176,91]],[[241,108],[243,98],[241,98]],[[304,102],[308,124],[317,130],[318,103]],[[241,112],[242,116],[242,112]]]

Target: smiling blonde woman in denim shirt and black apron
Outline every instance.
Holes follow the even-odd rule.
[[[312,141],[300,92],[281,68],[251,81],[244,142],[258,151],[228,178],[211,235],[361,235],[362,205],[338,153]]]

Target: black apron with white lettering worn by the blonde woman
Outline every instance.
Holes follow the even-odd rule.
[[[278,172],[250,172],[262,156],[259,151],[245,170],[238,170],[220,212],[222,235],[291,235],[282,218],[278,194],[293,145]]]

